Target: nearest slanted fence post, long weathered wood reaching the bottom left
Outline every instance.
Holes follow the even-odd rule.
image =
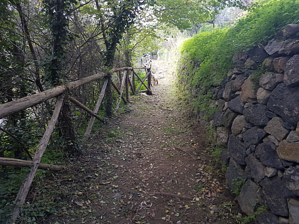
[[[47,128],[46,128],[46,130],[43,134],[43,138],[40,142],[40,145],[39,145],[39,147],[36,150],[36,153],[34,155],[33,165],[32,165],[31,171],[29,172],[28,176],[26,177],[26,180],[23,183],[23,185],[20,187],[20,190],[19,190],[19,192],[16,196],[16,199],[14,201],[15,207],[13,209],[12,216],[9,220],[10,224],[15,223],[16,219],[19,216],[20,209],[21,209],[22,205],[25,202],[25,199],[26,199],[27,194],[29,192],[29,188],[32,184],[32,181],[34,179],[34,176],[35,176],[36,172],[38,171],[39,164],[41,163],[41,160],[42,160],[42,157],[43,157],[43,152],[44,152],[44,150],[46,149],[46,147],[48,145],[50,136],[53,132],[54,126],[55,126],[56,121],[58,119],[58,115],[59,115],[59,112],[61,110],[63,101],[64,101],[64,95],[61,95],[57,100],[57,103],[55,105],[55,109],[54,109],[53,115],[51,117],[51,120],[48,123],[48,126],[47,126]]]

